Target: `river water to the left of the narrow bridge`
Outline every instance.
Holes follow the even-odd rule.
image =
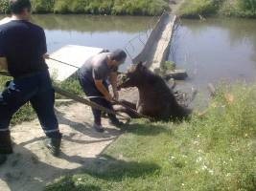
[[[0,15],[0,19],[3,17]],[[45,30],[49,53],[71,44],[108,50],[126,47],[128,53],[135,56],[143,44],[139,39],[131,44],[128,41],[137,35],[146,41],[145,32],[152,28],[155,21],[156,18],[147,16],[33,15],[33,22]]]

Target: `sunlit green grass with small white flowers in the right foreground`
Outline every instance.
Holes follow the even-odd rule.
[[[223,90],[204,117],[133,121],[93,165],[46,190],[255,190],[256,86]]]

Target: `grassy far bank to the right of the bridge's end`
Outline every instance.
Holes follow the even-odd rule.
[[[183,17],[224,15],[256,17],[256,0],[186,0],[179,14]]]

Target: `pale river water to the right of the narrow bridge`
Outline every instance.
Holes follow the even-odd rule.
[[[198,87],[256,79],[256,20],[182,20],[170,54]]]

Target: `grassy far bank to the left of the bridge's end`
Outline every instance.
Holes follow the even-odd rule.
[[[8,11],[8,0],[0,2],[0,12]],[[168,0],[32,0],[36,13],[87,13],[159,15],[168,9]]]

